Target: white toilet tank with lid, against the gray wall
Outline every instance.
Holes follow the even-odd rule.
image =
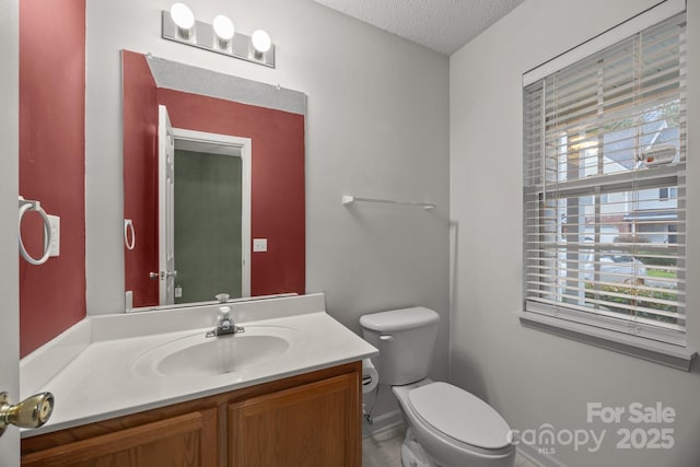
[[[436,312],[422,306],[360,317],[362,337],[380,350],[372,359],[380,384],[401,386],[428,377],[439,320]]]

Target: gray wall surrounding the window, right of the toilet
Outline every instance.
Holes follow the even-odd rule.
[[[598,453],[556,445],[569,466],[697,466],[700,375],[521,327],[522,73],[656,0],[527,0],[451,57],[451,214],[458,222],[452,377],[512,428],[607,429]],[[700,200],[700,1],[688,0],[688,199]],[[603,14],[602,14],[603,13]],[[688,212],[688,283],[700,278],[700,203]],[[700,290],[689,285],[688,340],[700,346]],[[661,401],[670,424],[595,425],[586,404]],[[626,419],[623,419],[626,420]],[[672,450],[617,450],[620,428],[672,428]]]

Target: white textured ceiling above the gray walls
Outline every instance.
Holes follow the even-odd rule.
[[[452,55],[524,0],[314,0]]]

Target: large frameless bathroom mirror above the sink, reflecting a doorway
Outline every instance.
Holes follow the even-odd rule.
[[[305,95],[121,59],[126,308],[304,293]]]

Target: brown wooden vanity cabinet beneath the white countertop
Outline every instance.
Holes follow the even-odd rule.
[[[361,375],[353,362],[26,437],[22,465],[360,467]]]

